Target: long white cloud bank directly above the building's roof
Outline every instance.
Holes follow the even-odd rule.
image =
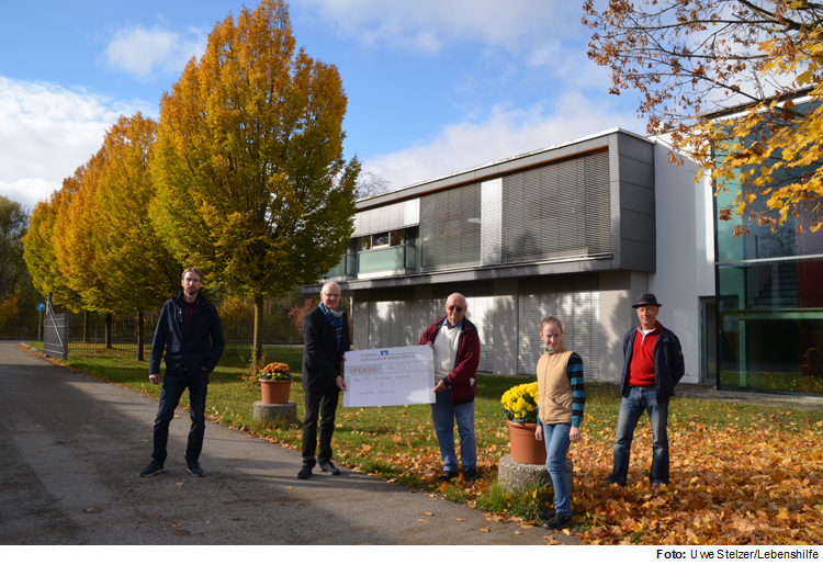
[[[512,110],[497,105],[483,122],[449,125],[429,142],[367,158],[363,168],[396,189],[617,126],[638,134],[645,132],[634,114],[620,115],[609,110],[605,101],[593,102],[580,93],[567,93],[551,111],[542,106]]]

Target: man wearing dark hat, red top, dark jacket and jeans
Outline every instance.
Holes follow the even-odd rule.
[[[641,294],[632,306],[640,325],[623,338],[623,374],[620,377],[620,414],[615,434],[615,464],[607,484],[625,486],[634,428],[649,413],[654,437],[653,488],[668,484],[668,399],[686,372],[680,341],[657,321],[661,304],[654,294]]]

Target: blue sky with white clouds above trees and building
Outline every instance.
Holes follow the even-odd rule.
[[[298,46],[338,66],[346,156],[391,188],[620,126],[578,2],[294,0]],[[250,1],[249,8],[257,7]],[[234,0],[0,0],[0,194],[33,207],[121,114],[158,117]]]

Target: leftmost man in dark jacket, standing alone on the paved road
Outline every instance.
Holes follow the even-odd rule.
[[[160,357],[166,350],[166,377],[160,391],[160,406],[155,419],[155,449],[151,463],[140,476],[162,472],[168,452],[169,422],[174,417],[180,396],[189,388],[191,430],[185,447],[185,470],[192,476],[202,476],[200,452],[205,432],[205,397],[208,373],[219,362],[226,346],[223,327],[214,307],[202,294],[202,272],[196,268],[183,271],[182,292],[166,301],[157,320],[151,355],[148,361],[148,380],[160,383]]]

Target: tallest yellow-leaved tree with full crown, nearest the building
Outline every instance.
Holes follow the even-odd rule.
[[[207,283],[255,298],[253,365],[263,298],[316,282],[352,233],[346,105],[337,68],[295,50],[280,0],[218,23],[161,99],[153,219]]]

